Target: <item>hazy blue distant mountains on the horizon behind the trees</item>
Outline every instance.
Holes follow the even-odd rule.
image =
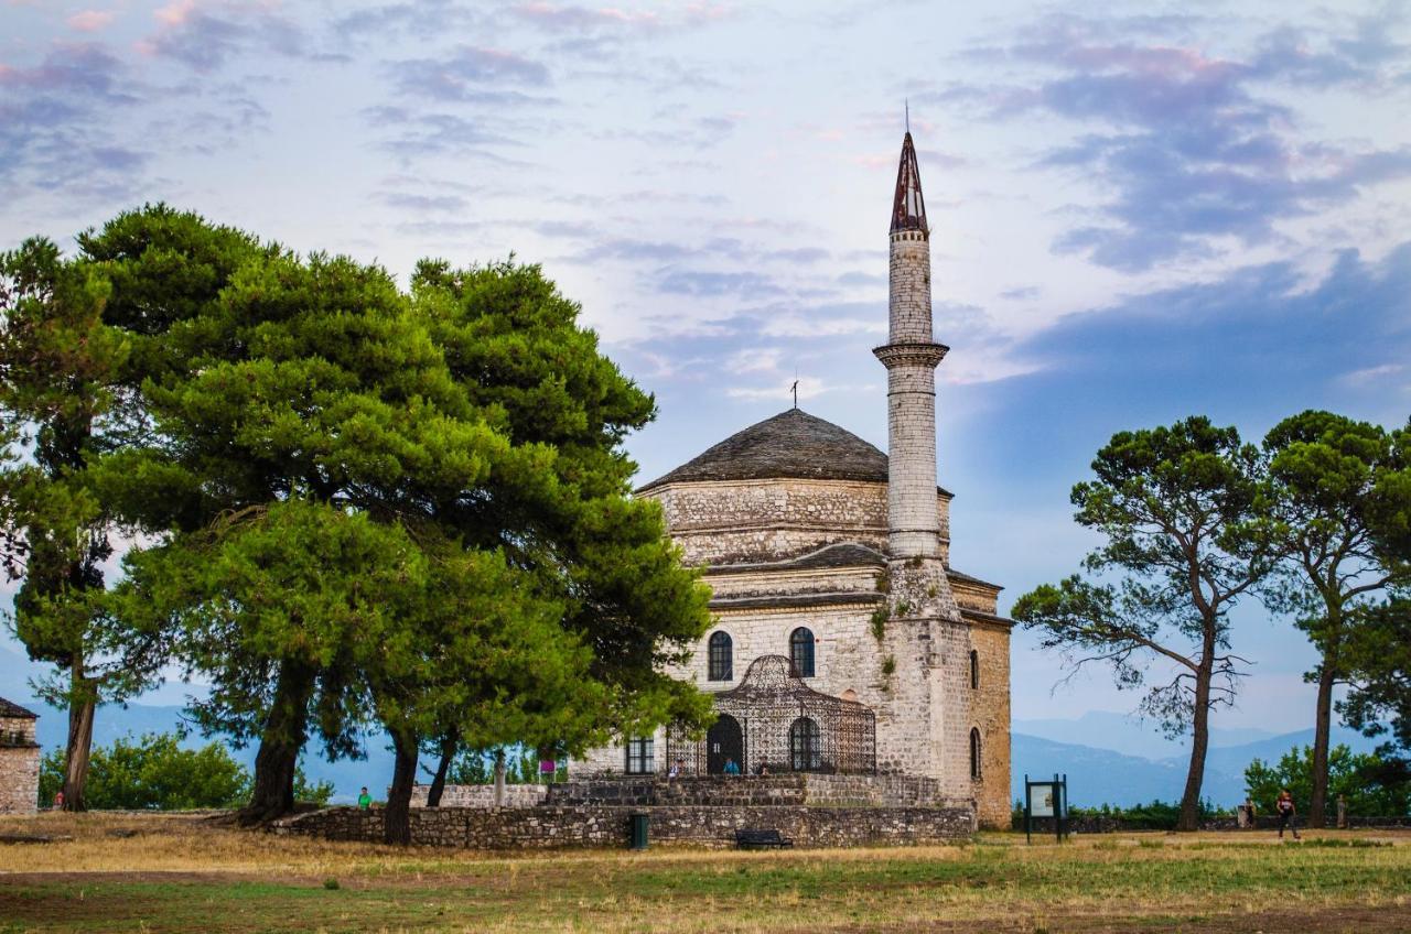
[[[63,745],[68,714],[40,704],[27,677],[35,666],[23,655],[0,648],[0,696],[40,714],[40,744],[45,749]],[[178,700],[181,693],[164,689],[161,700]],[[93,742],[109,745],[123,735],[171,732],[181,722],[181,704],[128,704],[104,707],[93,725]],[[1314,731],[1271,734],[1263,729],[1212,729],[1205,762],[1204,796],[1221,806],[1245,800],[1245,768],[1253,759],[1277,760],[1294,746],[1312,744]],[[186,745],[209,742],[199,735]],[[1024,775],[1068,776],[1072,804],[1113,804],[1129,807],[1153,799],[1175,801],[1185,787],[1188,760],[1187,739],[1170,741],[1125,714],[1091,711],[1078,720],[1016,720],[1012,745],[1012,792],[1023,797]],[[1356,731],[1336,728],[1333,742],[1343,742],[1359,752],[1377,744]],[[367,759],[325,762],[313,748],[306,753],[305,772],[313,782],[329,780],[337,801],[351,801],[358,786],[385,787],[392,776],[392,755],[385,738],[368,739]],[[233,751],[247,768],[254,765],[254,749]]]

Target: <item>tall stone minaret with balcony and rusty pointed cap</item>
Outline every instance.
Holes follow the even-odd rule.
[[[907,131],[890,230],[888,343],[888,701],[878,708],[878,768],[934,776],[952,800],[974,800],[967,744],[971,635],[951,593],[935,487],[935,367],[931,231]]]

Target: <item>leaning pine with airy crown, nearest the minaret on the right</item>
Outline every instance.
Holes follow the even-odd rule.
[[[1116,583],[1044,584],[1013,615],[1074,670],[1098,662],[1119,689],[1144,687],[1141,710],[1168,735],[1192,732],[1182,824],[1194,828],[1209,710],[1233,703],[1240,674],[1229,609],[1274,559],[1256,514],[1264,460],[1236,429],[1188,418],[1113,435],[1092,470],[1072,488],[1074,518],[1106,539],[1085,567]],[[1163,674],[1149,683],[1153,662]]]

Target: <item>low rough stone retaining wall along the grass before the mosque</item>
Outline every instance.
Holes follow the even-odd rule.
[[[468,849],[626,847],[631,815],[650,818],[653,844],[735,845],[735,831],[777,830],[796,847],[940,844],[974,832],[971,813],[938,807],[532,807],[423,808],[411,813],[412,842]],[[381,842],[382,808],[330,807],[285,818],[275,834]]]

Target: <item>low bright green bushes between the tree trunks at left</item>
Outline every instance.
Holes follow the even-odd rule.
[[[63,783],[63,751],[44,756],[40,803],[48,806]],[[102,810],[186,810],[236,807],[250,793],[250,773],[224,745],[182,749],[174,734],[114,739],[93,749],[87,804]]]

